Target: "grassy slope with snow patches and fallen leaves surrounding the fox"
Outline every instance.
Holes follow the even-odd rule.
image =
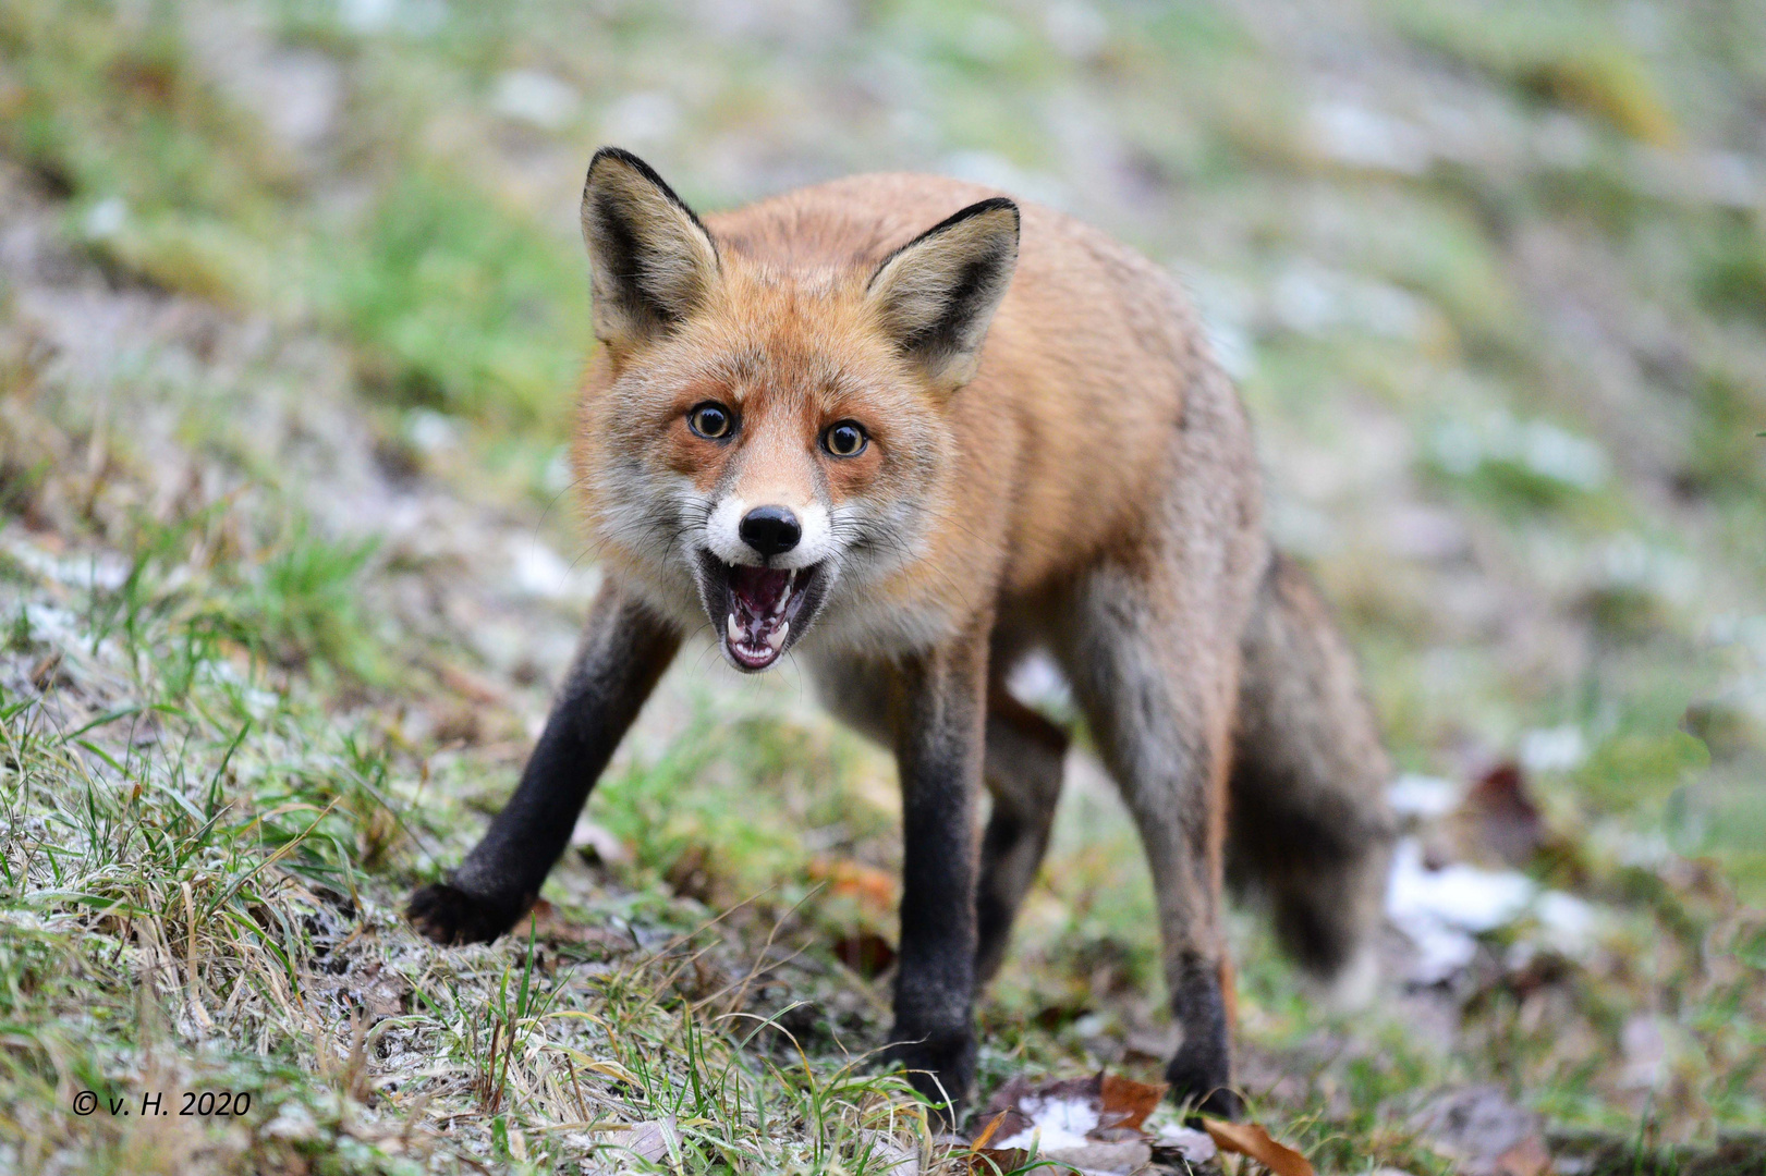
[[[1367,1008],[1234,908],[1259,1121],[1333,1172],[1761,1171],[1762,115],[1743,0],[0,0],[0,1169],[961,1164],[865,1065],[894,768],[793,666],[689,650],[519,934],[401,920],[595,584],[613,141],[705,208],[998,184],[1194,293],[1413,821]],[[1081,738],[982,1100],[1157,1077],[1151,925]]]

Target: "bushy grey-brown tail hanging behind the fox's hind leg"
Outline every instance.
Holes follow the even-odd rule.
[[[1355,659],[1286,556],[1270,563],[1243,653],[1229,876],[1266,892],[1286,950],[1330,980],[1379,920],[1390,765]]]

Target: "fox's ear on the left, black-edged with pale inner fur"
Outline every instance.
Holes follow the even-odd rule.
[[[692,314],[717,283],[717,245],[650,164],[602,147],[583,184],[583,244],[595,283],[595,337],[638,343]]]

